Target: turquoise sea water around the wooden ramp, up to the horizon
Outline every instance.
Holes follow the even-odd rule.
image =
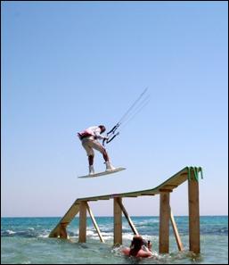
[[[70,239],[49,238],[61,218],[2,218],[1,264],[227,264],[228,216],[200,217],[200,255],[189,253],[188,218],[175,217],[184,252],[178,252],[170,230],[169,254],[159,254],[159,217],[132,217],[135,228],[151,240],[154,256],[125,257],[133,233],[123,218],[123,245],[113,247],[112,217],[95,218],[105,243],[101,243],[91,219],[87,219],[87,242],[78,243],[78,218],[67,228]]]

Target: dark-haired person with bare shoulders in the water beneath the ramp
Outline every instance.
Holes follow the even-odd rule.
[[[149,258],[152,256],[151,253],[151,243],[148,241],[146,246],[145,240],[140,235],[136,235],[133,237],[130,247],[126,247],[122,250],[126,256],[133,256],[137,258]]]

